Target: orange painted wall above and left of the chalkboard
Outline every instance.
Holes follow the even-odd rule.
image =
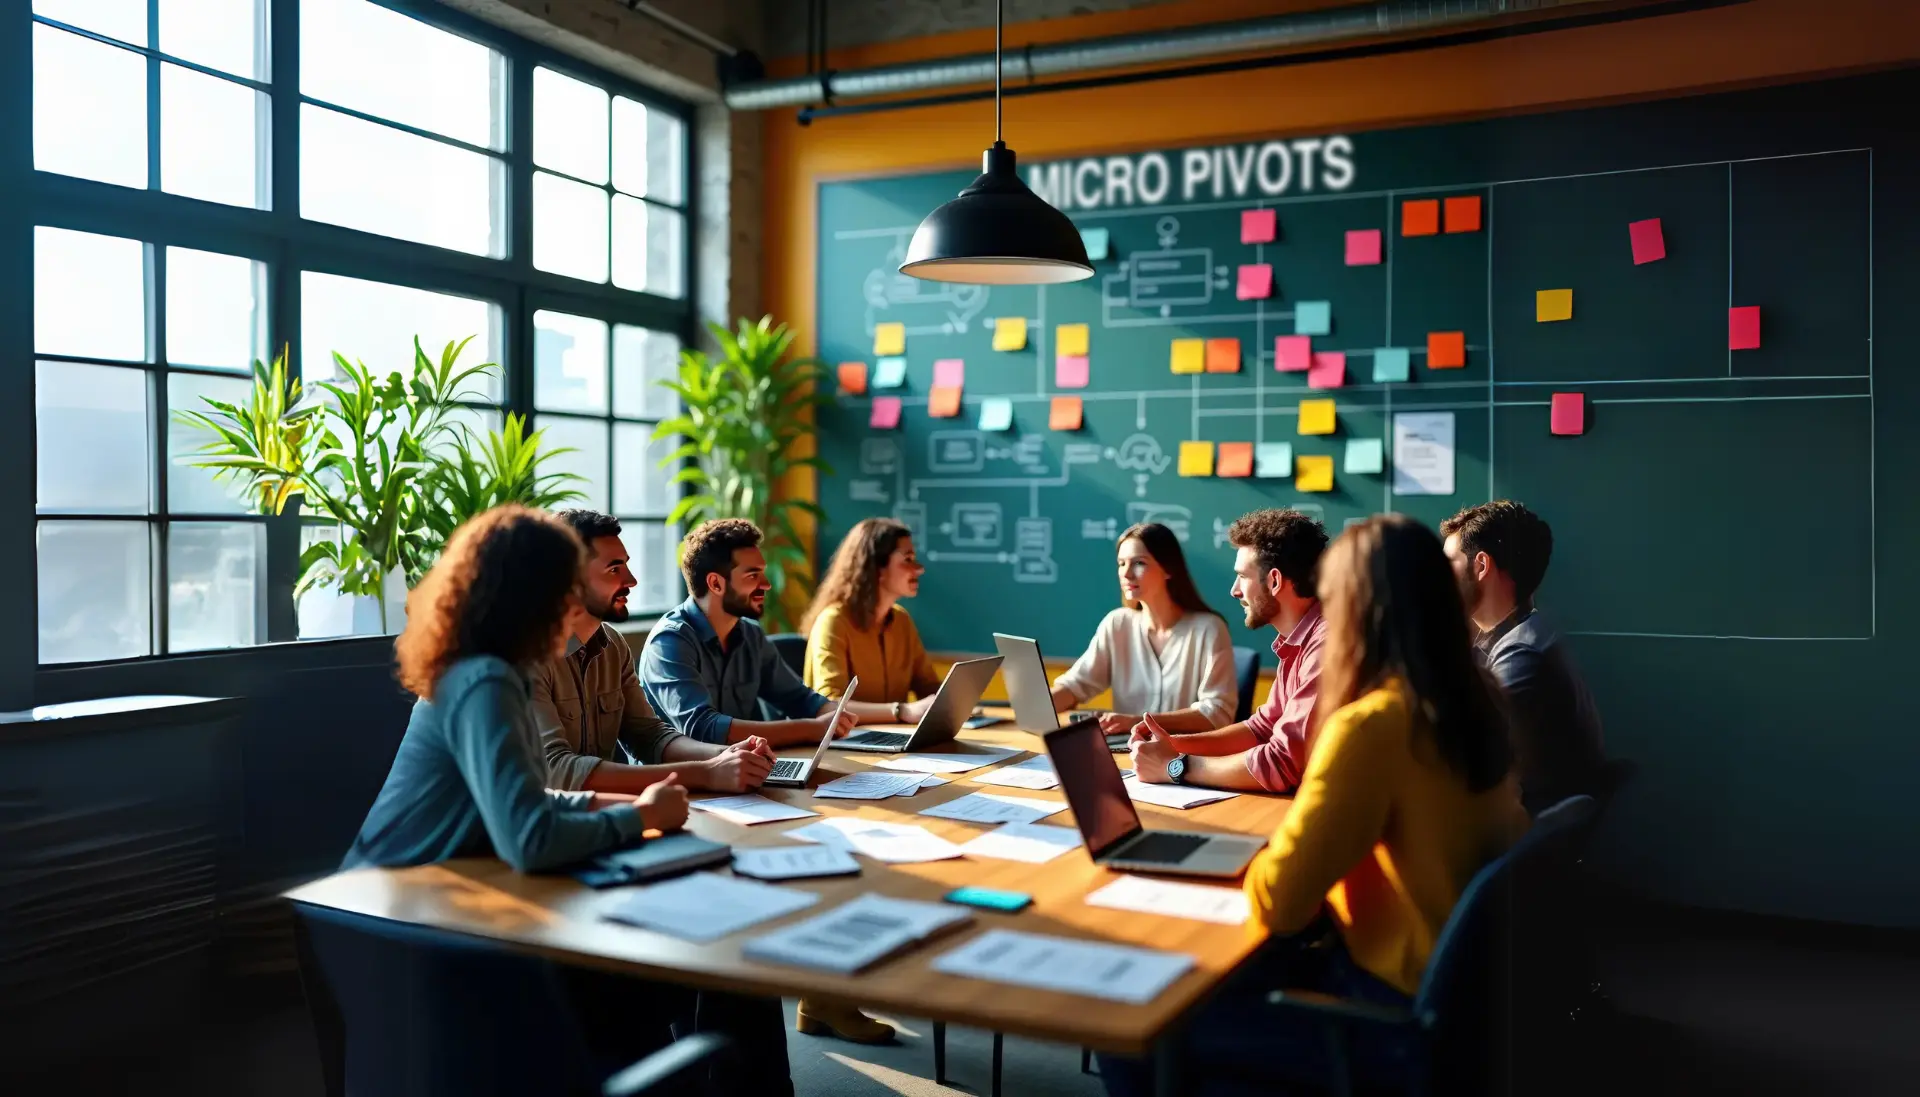
[[[1006,46],[1242,19],[1311,2],[1181,0],[1108,15],[1021,23]],[[839,50],[835,69],[993,48],[993,31]],[[1920,58],[1916,0],[1747,0],[1686,15],[1557,31],[1448,50],[1256,69],[1006,100],[1021,161],[1521,113],[1609,100],[1784,83]],[[776,71],[803,71],[785,61]],[[993,104],[851,115],[795,125],[766,117],[766,307],[814,348],[814,192],[847,175],[977,167]],[[791,490],[814,498],[810,480]],[[810,530],[803,530],[810,536]]]

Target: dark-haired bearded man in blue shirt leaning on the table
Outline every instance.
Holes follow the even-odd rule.
[[[776,747],[845,736],[856,722],[893,720],[893,705],[833,703],[806,688],[760,630],[766,555],[760,528],[745,519],[701,523],[680,546],[687,599],[662,617],[639,655],[639,680],[653,709],[703,744],[762,738]],[[760,713],[762,701],[774,719]]]

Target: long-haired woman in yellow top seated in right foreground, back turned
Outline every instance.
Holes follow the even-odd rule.
[[[1188,1026],[1183,1057],[1265,1085],[1325,1078],[1321,1022],[1265,1007],[1269,989],[1405,1007],[1467,882],[1526,830],[1505,719],[1440,538],[1371,517],[1327,549],[1317,586],[1327,647],[1311,753],[1246,870],[1252,928],[1275,939]],[[1100,1076],[1108,1093],[1150,1091],[1139,1060]]]

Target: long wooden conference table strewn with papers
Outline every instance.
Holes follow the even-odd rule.
[[[989,713],[1010,715],[1002,709],[989,709]],[[883,724],[876,726],[885,728]],[[1044,753],[1039,736],[1014,730],[1012,724],[962,732],[958,744],[943,744],[935,749],[941,753],[962,753],[966,751],[966,744]],[[806,757],[812,753],[812,747],[793,747],[781,753]],[[868,768],[874,761],[885,757],[893,755],[829,751],[822,765],[828,772],[816,774],[816,784]],[[970,792],[1052,801],[1066,799],[1058,788],[1029,792],[1021,788],[983,786],[972,780],[1002,765],[1018,763],[1023,757],[1027,755],[1008,755],[977,770],[945,774],[948,778],[947,784],[922,790],[910,797],[816,799],[810,790],[766,788],[760,792],[770,799],[818,811],[822,817],[858,817],[920,824],[952,841],[966,841],[987,828],[920,817],[918,813]],[[1125,755],[1114,755],[1114,759],[1116,765],[1127,761]],[[1148,826],[1267,836],[1286,817],[1290,803],[1281,797],[1242,793],[1187,811],[1146,803],[1137,803],[1135,807],[1140,809],[1140,818]],[[739,826],[695,811],[689,815],[687,828],[703,838],[730,845],[781,845],[785,843],[781,830],[808,822],[818,822],[818,818]],[[1068,826],[1071,824],[1071,815],[1064,811],[1041,822]],[[1116,876],[1116,872],[1092,865],[1083,845],[1075,845],[1071,851],[1043,865],[973,857],[922,865],[879,865],[862,857],[858,876],[789,880],[781,884],[783,888],[804,888],[820,893],[822,901],[814,907],[774,922],[762,922],[707,945],[607,922],[597,913],[611,901],[614,891],[593,891],[566,876],[522,876],[507,868],[501,861],[492,859],[447,861],[419,868],[340,872],[296,888],[286,897],[294,903],[486,938],[509,949],[545,955],[568,964],[607,968],[636,978],[780,997],[831,995],[876,1007],[879,1012],[966,1024],[989,1032],[1085,1045],[1119,1055],[1144,1055],[1196,1003],[1217,987],[1260,945],[1261,938],[1240,926],[1089,907],[1083,901],[1091,891],[1106,886]],[[816,916],[864,891],[897,899],[939,901],[941,895],[964,884],[1025,891],[1033,895],[1033,905],[1018,914],[975,911],[972,924],[937,936],[912,951],[881,961],[854,976],[766,964],[741,957],[741,945],[749,938],[793,920]],[[935,957],[993,928],[1177,951],[1194,957],[1196,963],[1192,970],[1144,1005],[1027,989],[933,970],[931,963]]]

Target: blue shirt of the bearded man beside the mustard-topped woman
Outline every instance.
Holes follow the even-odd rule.
[[[660,719],[707,744],[728,742],[733,720],[758,720],[760,701],[789,720],[816,717],[828,705],[787,667],[758,621],[739,621],[732,647],[722,649],[712,622],[691,597],[647,634],[639,686]]]

